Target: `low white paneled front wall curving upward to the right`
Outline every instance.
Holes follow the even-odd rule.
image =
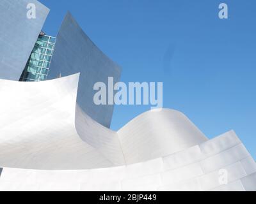
[[[227,184],[220,182],[226,170]],[[143,163],[94,170],[4,168],[0,191],[256,191],[256,164],[234,131]]]

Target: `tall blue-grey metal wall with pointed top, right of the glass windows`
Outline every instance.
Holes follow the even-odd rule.
[[[67,13],[57,36],[48,79],[80,73],[77,103],[92,119],[109,128],[113,105],[97,106],[93,103],[93,85],[114,83],[120,79],[121,69],[96,47],[74,18]]]

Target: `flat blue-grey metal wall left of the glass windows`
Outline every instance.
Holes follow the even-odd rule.
[[[28,4],[35,4],[36,18],[29,19]],[[36,0],[0,1],[0,77],[18,81],[49,9]]]

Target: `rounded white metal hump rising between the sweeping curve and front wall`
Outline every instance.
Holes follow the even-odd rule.
[[[127,164],[156,159],[207,141],[188,117],[169,109],[145,112],[117,133]]]

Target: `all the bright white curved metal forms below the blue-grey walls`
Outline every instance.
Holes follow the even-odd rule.
[[[166,109],[111,131],[76,105],[78,81],[0,80],[0,191],[256,191],[234,131],[207,140]]]

